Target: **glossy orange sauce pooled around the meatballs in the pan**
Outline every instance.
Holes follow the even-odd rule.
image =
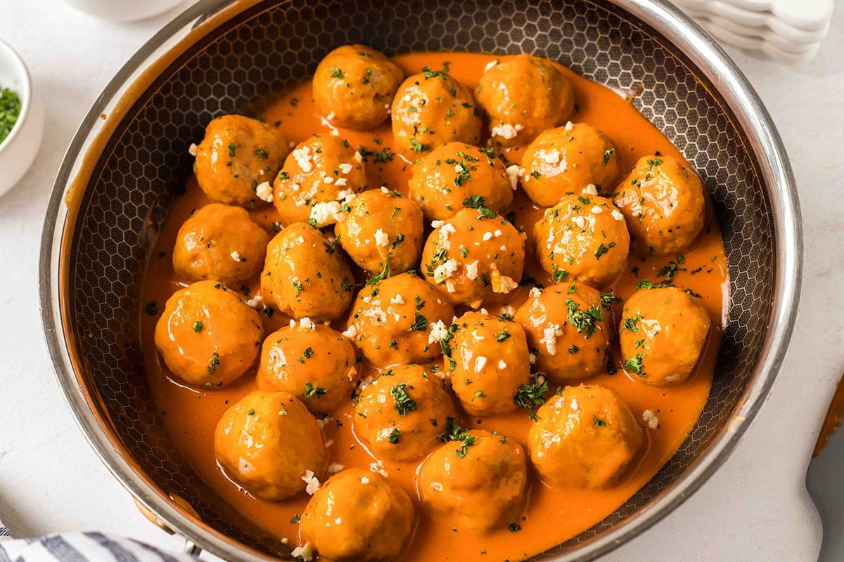
[[[506,57],[469,53],[414,53],[398,56],[395,60],[408,74],[420,72],[425,66],[440,68],[442,63],[447,61],[452,76],[473,88],[478,83],[486,63],[494,58]],[[673,155],[684,161],[671,142],[642,117],[629,101],[568,69],[561,70],[576,90],[579,112],[573,120],[588,122],[606,132],[619,151],[623,161],[622,169],[632,167],[641,156],[657,152]],[[328,134],[331,131],[314,109],[310,82],[291,89],[263,111],[261,116],[269,124],[278,123],[279,130],[289,140],[297,143],[312,133]],[[376,153],[383,149],[395,152],[388,122],[375,131],[360,133],[342,130],[340,134],[354,147],[363,146]],[[520,149],[512,149],[507,152],[507,156],[511,162],[518,162],[519,153]],[[398,155],[390,162],[376,163],[376,158],[370,157],[366,163],[371,187],[387,185],[390,189],[403,190],[405,193],[410,169],[411,163]],[[163,308],[166,299],[177,288],[184,286],[174,278],[171,265],[176,231],[193,210],[207,203],[195,180],[189,181],[186,194],[177,198],[170,208],[151,254],[143,289],[143,302],[157,302],[159,307]],[[542,213],[541,209],[533,206],[522,194],[517,195],[511,210],[517,211],[516,222],[522,227],[533,225]],[[395,479],[407,490],[411,498],[414,498],[419,514],[413,540],[400,559],[406,562],[430,559],[525,559],[600,522],[634,495],[657,473],[663,463],[674,455],[695,425],[709,396],[728,297],[727,263],[722,239],[711,208],[707,209],[707,215],[705,232],[691,248],[684,250],[682,263],[675,256],[642,259],[631,254],[619,281],[614,285],[616,294],[625,299],[636,291],[636,282],[641,279],[662,281],[664,277],[659,276],[657,272],[674,261],[678,267],[674,276],[675,284],[701,295],[701,302],[706,306],[713,321],[713,329],[701,361],[686,383],[671,388],[652,387],[637,381],[635,375],[627,375],[620,367],[614,375],[601,375],[588,381],[618,392],[630,406],[640,426],[645,428],[645,445],[625,481],[609,490],[551,490],[538,481],[536,474],[531,473],[532,484],[527,490],[527,506],[520,522],[521,530],[513,532],[505,528],[484,536],[473,536],[459,530],[453,531],[449,521],[432,519],[419,506],[416,491],[419,463],[385,461],[379,468],[386,471],[391,479]],[[260,210],[253,210],[252,217],[268,228],[271,228],[272,222],[278,220],[272,206],[268,205],[262,205]],[[544,285],[551,282],[549,276],[533,259],[527,260],[525,275],[533,276]],[[245,289],[253,293],[257,291],[257,279],[247,285]],[[521,287],[511,293],[512,304],[521,304],[527,298],[527,290],[528,287]],[[616,304],[616,325],[620,318],[620,309],[621,305]],[[303,494],[284,502],[258,500],[230,481],[214,458],[214,426],[230,404],[257,388],[254,367],[238,382],[219,390],[187,388],[170,377],[155,350],[153,331],[157,317],[147,314],[142,316],[143,359],[149,387],[176,447],[183,452],[197,474],[246,517],[268,533],[279,538],[288,538],[291,545],[300,543],[299,524],[290,521],[304,511],[309,496]],[[267,334],[289,320],[280,313],[274,313],[271,318],[265,315],[262,317]],[[341,322],[343,320],[344,318]],[[619,364],[617,343],[614,346],[614,356]],[[367,373],[362,374],[365,376]],[[657,416],[659,426],[656,429],[647,427],[647,422],[642,418],[642,413],[647,409]],[[370,468],[376,459],[370,456],[354,436],[351,417],[352,404],[349,401],[349,404],[333,411],[331,417],[325,420],[323,431],[326,439],[332,442],[329,447],[330,460],[332,463],[342,464],[344,468]],[[531,421],[526,410],[519,410],[512,415],[487,416],[483,420],[464,415],[460,421],[464,427],[500,431],[527,447],[527,431]]]

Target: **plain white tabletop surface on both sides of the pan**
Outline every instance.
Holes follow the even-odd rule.
[[[65,148],[106,83],[173,15],[111,24],[59,0],[0,0],[0,38],[24,57],[46,110],[35,164],[0,198],[0,518],[17,536],[84,529],[181,546],[138,513],[78,430],[46,354],[37,296],[41,226]],[[728,462],[608,562],[791,562],[814,560],[820,548],[803,478],[844,369],[844,10],[812,62],[728,51],[770,110],[798,178],[806,253],[797,328],[770,398]]]

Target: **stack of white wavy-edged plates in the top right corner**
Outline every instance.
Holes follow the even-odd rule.
[[[834,0],[672,0],[718,40],[808,61],[830,30]]]

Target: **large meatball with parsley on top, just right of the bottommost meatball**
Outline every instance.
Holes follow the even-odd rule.
[[[419,499],[458,531],[506,529],[522,516],[527,459],[515,439],[489,431],[452,429],[419,469]]]

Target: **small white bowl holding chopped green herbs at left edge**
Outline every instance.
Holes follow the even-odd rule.
[[[18,120],[0,142],[0,195],[3,195],[30,169],[44,136],[44,110],[33,95],[30,73],[18,53],[3,41],[0,41],[0,88],[9,88],[20,98]]]

